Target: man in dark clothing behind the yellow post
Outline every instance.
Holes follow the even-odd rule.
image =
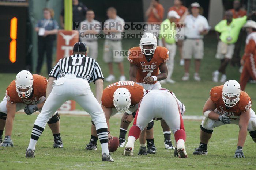
[[[78,0],[72,0],[73,7],[73,22],[79,22],[85,20],[87,7],[83,3],[79,3]],[[60,14],[60,26],[64,28],[64,9]],[[74,30],[74,27],[73,27]]]

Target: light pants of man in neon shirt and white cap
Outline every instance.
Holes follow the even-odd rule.
[[[163,43],[162,43],[161,39],[158,40],[158,45],[163,46]],[[170,79],[172,77],[172,74],[173,74],[174,57],[176,55],[177,46],[176,46],[176,43],[173,43],[173,44],[165,43],[165,47],[169,50],[169,60],[166,62],[166,64],[167,64],[167,67],[168,67],[167,79]]]

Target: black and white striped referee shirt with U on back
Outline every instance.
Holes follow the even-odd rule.
[[[66,74],[82,76],[88,81],[88,83],[91,81],[95,83],[99,78],[104,80],[101,67],[99,67],[98,62],[93,58],[81,54],[74,54],[60,59],[53,67],[49,77],[57,79]]]

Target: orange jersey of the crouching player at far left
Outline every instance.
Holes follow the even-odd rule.
[[[30,98],[20,98],[16,91],[15,80],[6,89],[6,98],[11,103],[35,104],[46,94],[47,79],[44,76],[33,74],[33,96]]]

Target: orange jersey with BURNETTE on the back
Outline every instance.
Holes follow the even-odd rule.
[[[127,88],[131,93],[131,106],[140,102],[144,95],[144,88],[133,81],[118,81],[108,85],[104,90],[101,98],[101,104],[107,108],[115,108],[113,104],[114,92],[118,88]]]

